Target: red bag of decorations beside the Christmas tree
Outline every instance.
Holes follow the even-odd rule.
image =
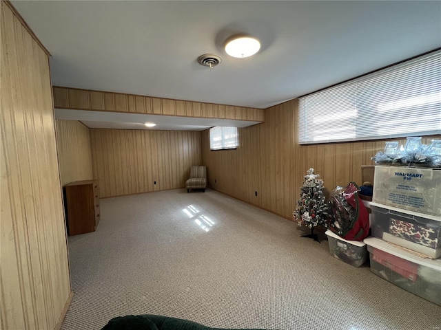
[[[358,196],[357,184],[350,182],[331,197],[333,218],[329,229],[348,241],[362,241],[369,236],[369,213]]]

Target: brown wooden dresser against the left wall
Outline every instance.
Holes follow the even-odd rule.
[[[98,180],[74,181],[65,186],[68,235],[94,232],[99,223]]]

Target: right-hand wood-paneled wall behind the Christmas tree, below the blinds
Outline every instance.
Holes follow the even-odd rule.
[[[371,157],[384,149],[385,140],[300,146],[297,109],[298,100],[265,109],[265,123],[239,129],[236,150],[210,151],[209,131],[203,131],[202,162],[207,166],[209,185],[291,219],[309,168],[320,174],[328,196],[349,181],[362,184],[360,166],[373,165]],[[433,138],[441,135],[423,142],[429,144]],[[406,139],[394,140],[404,143]]]

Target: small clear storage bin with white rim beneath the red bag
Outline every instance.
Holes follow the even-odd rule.
[[[340,236],[327,230],[329,252],[337,259],[349,263],[354,267],[360,267],[367,261],[367,248],[366,244],[359,241],[347,241]]]

